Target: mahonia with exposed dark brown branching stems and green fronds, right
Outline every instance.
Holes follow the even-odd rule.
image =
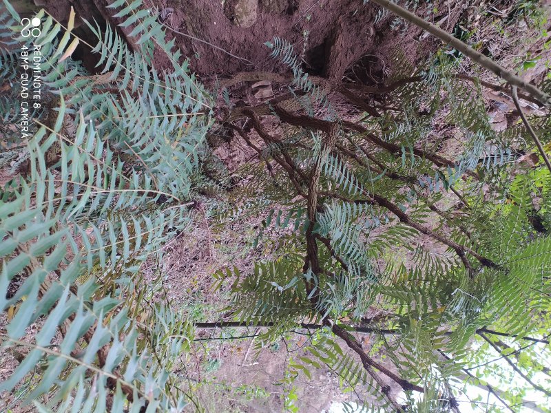
[[[531,360],[526,366],[547,368],[521,352],[526,346],[512,346],[548,343],[551,171],[526,125],[492,129],[484,85],[459,75],[445,50],[417,68],[397,52],[387,85],[370,87],[309,76],[287,41],[266,45],[289,66],[283,77],[291,90],[227,111],[225,127],[261,162],[243,167],[251,178],[232,193],[223,222],[264,217],[253,247],[273,258],[256,262],[252,274],[231,267],[216,274],[220,285],[233,279],[233,315],[269,326],[268,342],[297,326],[322,328],[306,356],[290,363],[291,377],[325,365],[344,389],[380,396],[359,400],[368,411],[448,412],[474,385],[511,409],[519,396],[480,384],[490,379],[473,354],[489,346],[488,358],[521,353]],[[251,75],[262,78],[282,82]],[[279,127],[268,130],[261,116]],[[437,121],[461,142],[448,156],[446,137],[434,136]],[[550,122],[530,119],[545,145]],[[535,166],[519,161],[527,153],[539,158]],[[373,333],[393,368],[373,359],[353,330]],[[548,386],[512,366],[508,374],[527,379],[519,393],[533,389],[541,401],[530,403],[546,405]]]

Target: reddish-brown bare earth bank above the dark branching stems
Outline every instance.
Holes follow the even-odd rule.
[[[220,1],[213,0],[160,2],[158,8],[174,8],[166,22],[172,28],[247,59],[236,59],[210,45],[169,32],[169,39],[176,38],[176,45],[189,57],[191,69],[198,74],[223,76],[253,70],[287,72],[288,68],[269,57],[270,50],[264,45],[273,36],[293,43],[295,52],[305,52],[306,70],[339,80],[346,67],[366,54],[389,61],[392,51],[399,45],[413,63],[433,49],[430,39],[417,41],[420,30],[416,28],[408,28],[405,35],[400,30],[391,30],[388,27],[391,17],[375,25],[379,8],[373,3],[263,0],[258,5],[253,25],[240,28],[232,15],[232,6],[237,2],[227,1],[224,8]]]

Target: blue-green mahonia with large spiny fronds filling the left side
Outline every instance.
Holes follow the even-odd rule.
[[[87,44],[101,68],[94,75],[70,57],[86,43],[73,32],[74,12],[63,27],[41,11],[39,36],[24,37],[4,6],[1,74],[11,88],[0,100],[1,162],[24,159],[0,193],[0,346],[19,354],[0,391],[19,385],[21,403],[40,411],[180,411],[194,396],[170,373],[194,328],[154,299],[158,285],[141,266],[189,228],[211,98],[141,1],[109,6],[122,25],[135,24],[140,52],[109,25],[85,22],[97,40]],[[28,129],[13,129],[23,108],[19,59],[32,50],[43,107],[26,117]],[[154,50],[171,57],[169,75],[155,70]]]

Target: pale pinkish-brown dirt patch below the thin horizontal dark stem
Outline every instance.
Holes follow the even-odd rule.
[[[253,332],[254,330],[251,329],[250,333]],[[210,333],[216,337],[215,332],[211,331]],[[241,330],[239,333],[243,334],[243,331]],[[218,334],[220,334],[219,331]],[[209,335],[205,334],[202,337],[209,337]],[[362,337],[359,339],[361,341]],[[216,341],[214,342],[216,343]],[[205,344],[208,341],[202,343]],[[228,341],[222,345],[218,342],[216,347],[209,351],[208,356],[207,352],[195,355],[203,364],[207,359],[220,361],[218,370],[207,374],[203,373],[201,377],[212,384],[202,386],[196,394],[207,412],[278,413],[284,411],[284,395],[288,395],[291,390],[291,385],[281,384],[284,370],[289,368],[291,359],[296,362],[298,357],[312,358],[309,352],[303,350],[308,343],[304,336],[294,335],[278,341],[277,346],[258,350],[255,347],[257,344],[258,341],[251,343],[251,339],[233,343]],[[359,360],[356,361],[359,362]],[[390,365],[390,363],[388,364]],[[331,403],[354,399],[354,393],[342,392],[339,378],[329,368],[311,367],[310,372],[311,379],[303,373],[299,373],[293,383],[298,396],[294,405],[298,407],[298,412],[326,412]],[[223,388],[222,385],[228,385],[229,388]],[[264,389],[265,393],[263,396],[248,401],[239,399],[236,397],[236,390],[241,385],[247,385],[249,388],[259,387]],[[391,385],[393,394],[399,393],[400,389],[395,383],[389,382],[388,385]],[[230,390],[231,388],[233,391]],[[356,391],[365,401],[375,401],[360,386]]]

